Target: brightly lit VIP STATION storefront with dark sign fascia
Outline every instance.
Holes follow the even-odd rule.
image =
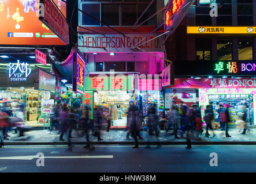
[[[18,105],[24,104],[25,123],[42,127],[54,105],[55,76],[49,74],[51,65],[35,62],[35,56],[20,54],[2,58],[1,66],[1,106],[7,103],[15,114]]]

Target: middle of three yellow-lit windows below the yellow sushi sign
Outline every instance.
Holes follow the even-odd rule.
[[[218,60],[232,60],[232,39],[217,40]]]

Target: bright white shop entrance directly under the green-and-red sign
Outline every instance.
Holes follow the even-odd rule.
[[[97,91],[94,93],[94,108],[102,106],[103,114],[112,108],[110,128],[125,128],[129,103],[133,103],[133,91]]]

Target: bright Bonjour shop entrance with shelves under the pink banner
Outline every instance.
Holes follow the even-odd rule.
[[[229,115],[231,117],[231,124],[235,124],[238,120],[238,113],[242,109],[246,110],[247,118],[246,121],[253,125],[254,112],[253,112],[253,94],[220,94],[220,95],[209,95],[209,102],[213,102],[214,113],[217,116],[218,104],[224,104],[229,107]]]

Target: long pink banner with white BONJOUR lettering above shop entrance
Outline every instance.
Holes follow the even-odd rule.
[[[256,79],[242,78],[179,78],[175,79],[175,85],[168,88],[254,88],[256,87]]]

